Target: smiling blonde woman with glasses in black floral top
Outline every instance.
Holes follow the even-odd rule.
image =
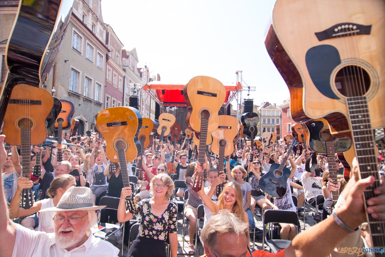
[[[177,257],[177,206],[168,199],[174,190],[174,183],[167,174],[160,173],[150,181],[152,198],[137,203],[137,215],[141,215],[139,233],[132,243],[127,257],[166,257],[164,242],[169,238],[171,257]],[[126,211],[126,197],[132,195],[131,186],[122,188],[118,208],[119,222],[133,218]]]

